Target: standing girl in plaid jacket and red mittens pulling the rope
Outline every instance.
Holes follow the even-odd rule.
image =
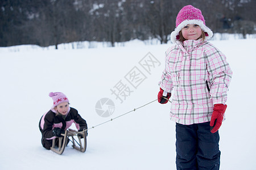
[[[162,104],[172,96],[177,169],[220,168],[218,129],[232,70],[224,54],[207,41],[212,36],[199,9],[188,5],[180,10],[158,93]]]

